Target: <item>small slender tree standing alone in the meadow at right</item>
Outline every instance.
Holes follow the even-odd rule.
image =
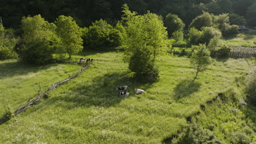
[[[200,44],[199,46],[194,46],[190,64],[196,70],[196,79],[198,73],[205,71],[207,66],[211,64],[210,52],[206,49],[206,45]]]

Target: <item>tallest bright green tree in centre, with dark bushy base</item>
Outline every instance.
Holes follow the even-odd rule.
[[[158,78],[155,57],[166,47],[166,27],[160,16],[149,11],[145,15],[137,15],[126,4],[123,9],[123,20],[126,23],[125,56],[129,69],[139,77],[155,80]]]

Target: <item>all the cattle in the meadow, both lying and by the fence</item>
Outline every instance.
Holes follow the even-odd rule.
[[[88,62],[92,62],[92,61],[94,61],[92,58],[88,58],[86,61],[85,61],[85,58],[80,58],[79,63],[82,64],[85,62],[88,63]],[[119,91],[119,95],[121,95],[121,96],[125,96],[125,97],[129,96],[130,93],[128,93],[127,90],[128,90],[128,86],[117,87],[117,91]],[[126,92],[122,92],[122,91],[126,91]],[[142,93],[144,93],[144,91],[142,89],[135,88],[135,93],[142,94]]]

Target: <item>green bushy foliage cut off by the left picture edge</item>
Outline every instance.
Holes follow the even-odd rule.
[[[4,29],[0,23],[0,60],[16,58],[18,55],[14,48],[18,39],[14,38],[12,31]]]

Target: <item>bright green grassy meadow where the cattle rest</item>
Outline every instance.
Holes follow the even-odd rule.
[[[156,62],[160,81],[141,83],[127,76],[123,52],[84,51],[74,59],[80,57],[95,59],[91,68],[0,125],[0,143],[161,143],[188,125],[186,117],[200,111],[200,104],[233,87],[230,83],[252,66],[246,59],[214,60],[193,81],[189,58],[160,56]],[[77,64],[34,66],[16,60],[0,65],[0,98],[12,110],[39,87],[46,89],[81,68]],[[122,85],[129,86],[129,97],[115,91]],[[146,92],[136,95],[134,88]]]

